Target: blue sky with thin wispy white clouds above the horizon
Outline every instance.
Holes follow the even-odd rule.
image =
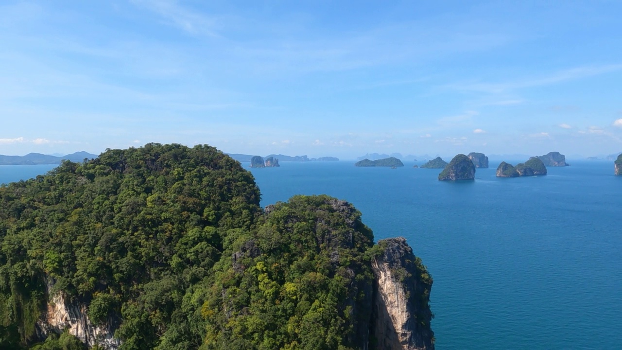
[[[620,1],[4,1],[0,154],[622,150]]]

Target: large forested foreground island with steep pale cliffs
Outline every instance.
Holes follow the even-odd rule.
[[[405,239],[374,244],[332,197],[260,198],[207,145],[0,187],[0,348],[434,349],[432,278]]]

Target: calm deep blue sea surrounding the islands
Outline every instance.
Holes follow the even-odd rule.
[[[434,278],[437,349],[622,349],[622,176],[613,162],[498,178],[491,161],[475,181],[458,182],[413,168],[422,162],[353,163],[248,169],[262,206],[328,194],[360,210],[376,240],[406,237]],[[52,168],[0,166],[0,183]]]

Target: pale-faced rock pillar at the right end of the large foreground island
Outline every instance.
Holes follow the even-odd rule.
[[[377,343],[370,349],[434,349],[432,278],[403,237],[378,245],[381,252],[371,262],[376,278],[371,332]]]

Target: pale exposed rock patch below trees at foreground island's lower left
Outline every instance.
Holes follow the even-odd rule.
[[[80,339],[89,348],[99,346],[100,349],[116,350],[121,340],[114,338],[114,322],[109,319],[106,324],[95,326],[87,316],[88,305],[78,301],[69,301],[62,291],[53,292],[53,283],[47,283],[47,312],[37,322],[37,333],[40,339],[47,338],[50,333],[69,334]]]

